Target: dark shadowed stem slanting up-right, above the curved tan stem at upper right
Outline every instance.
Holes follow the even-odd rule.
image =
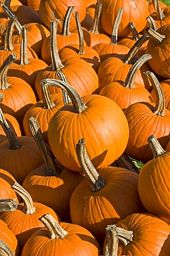
[[[139,51],[142,44],[144,44],[149,38],[150,36],[147,33],[142,35],[129,50],[128,54],[126,54],[123,62],[126,64],[131,64],[133,62],[134,55]]]

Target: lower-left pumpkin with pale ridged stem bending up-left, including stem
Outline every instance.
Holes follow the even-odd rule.
[[[19,185],[18,182],[15,182],[12,188],[22,197],[23,203],[18,204],[17,209],[13,212],[3,212],[0,218],[16,236],[21,253],[29,237],[39,228],[44,227],[43,223],[39,220],[43,214],[49,212],[56,221],[60,221],[60,217],[50,207],[33,202],[27,190]]]

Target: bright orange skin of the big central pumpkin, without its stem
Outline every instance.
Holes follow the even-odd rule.
[[[82,101],[87,106],[82,113],[74,113],[74,107],[66,105],[50,119],[48,126],[48,142],[55,157],[68,169],[79,172],[75,148],[80,138],[86,140],[95,167],[113,163],[123,154],[129,138],[126,118],[113,100],[94,94],[82,97]]]

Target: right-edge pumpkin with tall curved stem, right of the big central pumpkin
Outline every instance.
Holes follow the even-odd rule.
[[[148,137],[155,134],[162,147],[165,148],[169,141],[170,125],[170,112],[165,109],[162,88],[154,73],[147,71],[145,74],[156,91],[157,102],[137,102],[124,110],[130,129],[125,153],[143,163],[152,159],[152,152],[147,142]]]

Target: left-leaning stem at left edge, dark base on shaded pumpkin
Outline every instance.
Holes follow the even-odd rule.
[[[3,100],[4,98],[4,94],[0,93],[0,102]],[[6,137],[10,143],[10,149],[18,149],[21,147],[20,143],[18,142],[18,140],[16,139],[16,137],[14,136],[13,131],[11,130],[10,126],[8,125],[8,123],[6,122],[6,119],[4,117],[3,111],[0,108],[0,124],[2,126],[2,129],[4,130]]]

